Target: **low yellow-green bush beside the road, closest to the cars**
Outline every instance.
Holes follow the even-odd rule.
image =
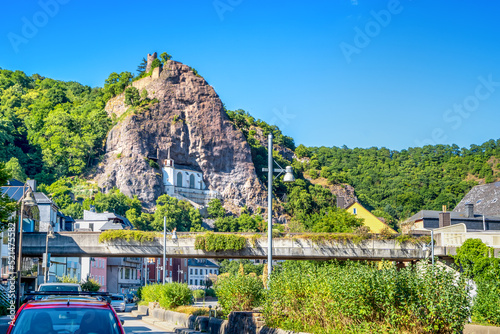
[[[142,287],[141,300],[158,302],[161,307],[171,310],[192,304],[193,292],[182,283],[150,284]]]

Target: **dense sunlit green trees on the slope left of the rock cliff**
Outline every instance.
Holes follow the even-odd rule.
[[[0,70],[0,161],[17,158],[16,176],[38,183],[79,175],[103,152],[111,125],[105,95],[102,88]]]

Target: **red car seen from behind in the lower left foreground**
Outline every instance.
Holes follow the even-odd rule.
[[[7,334],[125,334],[109,303],[91,297],[57,296],[21,306]]]

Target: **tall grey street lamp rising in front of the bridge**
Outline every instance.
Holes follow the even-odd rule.
[[[274,168],[273,163],[277,164],[279,168]],[[273,270],[273,180],[274,173],[278,176],[285,173],[283,182],[294,182],[292,166],[286,166],[283,169],[276,161],[273,160],[273,134],[268,136],[267,146],[267,168],[262,168],[263,172],[267,172],[267,281],[271,280],[271,272]],[[269,284],[268,284],[269,287]]]

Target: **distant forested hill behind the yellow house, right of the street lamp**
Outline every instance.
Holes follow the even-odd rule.
[[[363,205],[395,219],[442,205],[453,209],[474,185],[500,179],[500,140],[402,151],[300,145],[295,153],[294,166],[306,177],[348,183]]]

